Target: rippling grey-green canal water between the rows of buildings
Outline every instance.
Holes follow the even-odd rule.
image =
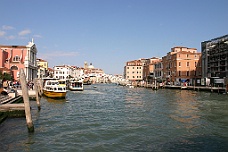
[[[65,100],[32,101],[0,124],[0,151],[228,151],[228,96],[188,90],[85,86]]]

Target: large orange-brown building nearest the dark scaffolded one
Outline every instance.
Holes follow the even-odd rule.
[[[195,48],[174,47],[162,57],[163,79],[168,84],[198,84],[201,79],[201,53]],[[198,84],[200,85],[200,84]]]

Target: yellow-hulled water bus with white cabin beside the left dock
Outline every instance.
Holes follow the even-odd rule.
[[[65,98],[67,94],[64,80],[45,80],[43,94],[49,98]]]

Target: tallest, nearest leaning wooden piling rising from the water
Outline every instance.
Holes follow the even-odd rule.
[[[28,88],[27,88],[25,73],[23,69],[20,69],[20,82],[21,82],[21,88],[22,88],[22,96],[23,96],[24,105],[25,105],[25,116],[26,116],[28,131],[34,132],[34,126],[32,122],[32,116],[31,116],[30,104],[29,104]]]

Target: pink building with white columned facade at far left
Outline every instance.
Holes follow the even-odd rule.
[[[19,70],[24,69],[26,80],[37,78],[37,48],[33,39],[26,46],[0,45],[0,67],[12,71],[14,80],[19,79]]]

